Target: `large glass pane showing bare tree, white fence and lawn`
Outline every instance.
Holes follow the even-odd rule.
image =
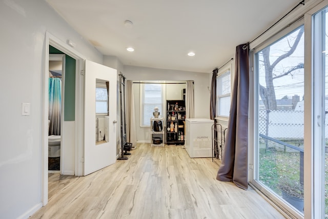
[[[300,26],[257,50],[254,64],[255,181],[300,214],[304,207],[304,109],[299,107],[304,96],[303,32]]]

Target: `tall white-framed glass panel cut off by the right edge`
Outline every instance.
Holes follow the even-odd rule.
[[[328,8],[314,20],[314,203],[315,217],[328,218]],[[320,119],[319,119],[320,118]]]

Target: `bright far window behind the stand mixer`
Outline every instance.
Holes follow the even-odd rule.
[[[153,116],[154,108],[163,115],[164,86],[162,84],[141,84],[141,104],[140,104],[140,126],[150,126],[150,118]]]

